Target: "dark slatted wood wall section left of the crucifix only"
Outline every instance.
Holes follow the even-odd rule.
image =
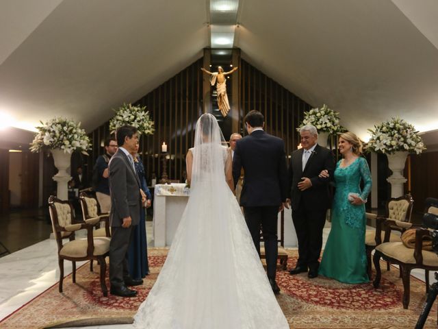
[[[203,113],[202,65],[201,58],[135,102],[136,105],[146,106],[155,122],[154,134],[140,138],[140,154],[148,184],[151,184],[153,173],[157,179],[161,178],[163,142],[168,145],[166,161],[170,180],[182,181],[185,176],[185,154],[193,145],[196,120]],[[109,136],[109,121],[90,134],[92,151],[88,157],[89,181],[97,156],[103,154],[103,141]]]

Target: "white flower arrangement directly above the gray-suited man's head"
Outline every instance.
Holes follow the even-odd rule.
[[[149,117],[149,111],[146,111],[146,106],[133,106],[131,103],[124,103],[116,110],[116,115],[110,120],[111,133],[114,134],[117,128],[123,125],[136,127],[140,135],[151,135],[155,130],[154,123]]]

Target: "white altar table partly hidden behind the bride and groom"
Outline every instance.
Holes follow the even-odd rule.
[[[179,221],[190,197],[190,189],[185,184],[157,184],[154,191],[153,239],[155,247],[168,247],[172,244]],[[279,212],[278,235],[281,236],[281,212]],[[298,245],[291,210],[284,211],[284,245]]]

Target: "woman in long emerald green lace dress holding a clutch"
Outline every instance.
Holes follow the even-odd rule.
[[[371,174],[360,156],[362,143],[352,132],[339,136],[342,160],[336,165],[332,222],[319,273],[344,283],[368,282],[365,255],[365,202],[371,190]],[[321,177],[328,175],[322,171]],[[361,191],[360,184],[364,186]]]

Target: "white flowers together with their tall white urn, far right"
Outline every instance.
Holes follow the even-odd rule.
[[[368,131],[371,138],[366,149],[387,155],[388,167],[392,171],[387,178],[391,184],[391,197],[400,197],[407,181],[403,177],[406,158],[409,153],[421,154],[426,149],[423,140],[413,125],[400,118],[391,118]]]

